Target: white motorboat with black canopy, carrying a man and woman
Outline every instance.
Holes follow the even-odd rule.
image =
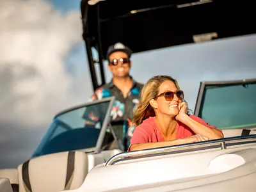
[[[244,14],[238,17],[237,10]],[[123,42],[136,53],[254,34],[248,22],[254,12],[252,1],[83,0],[93,89],[106,83],[103,61],[110,44]],[[54,116],[31,158],[0,170],[0,191],[255,191],[256,79],[198,83],[195,115],[225,138],[124,152],[111,129],[115,97],[109,97]],[[88,126],[83,115],[92,107],[102,118]]]

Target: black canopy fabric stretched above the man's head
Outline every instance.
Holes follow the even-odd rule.
[[[83,0],[83,38],[105,59],[116,42],[142,52],[256,33],[255,10],[248,0]]]

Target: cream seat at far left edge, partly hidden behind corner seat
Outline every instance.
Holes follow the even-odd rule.
[[[19,179],[18,179],[18,170],[17,169],[0,170],[0,178],[8,178],[12,185],[13,192],[19,191]]]

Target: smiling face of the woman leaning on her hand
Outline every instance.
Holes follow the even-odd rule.
[[[160,86],[158,90],[158,94],[164,93],[164,92],[177,92],[177,88],[175,84],[172,81],[164,81]],[[173,96],[173,100],[167,101],[164,96],[158,97],[156,99],[157,114],[161,113],[163,115],[168,116],[176,116],[179,114],[179,104],[181,100],[177,97],[176,94]]]

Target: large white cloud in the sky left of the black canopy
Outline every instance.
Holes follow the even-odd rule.
[[[0,121],[34,127],[85,100],[83,88],[72,92],[76,83],[65,69],[65,56],[81,41],[79,12],[61,15],[47,1],[0,0],[0,23]]]

